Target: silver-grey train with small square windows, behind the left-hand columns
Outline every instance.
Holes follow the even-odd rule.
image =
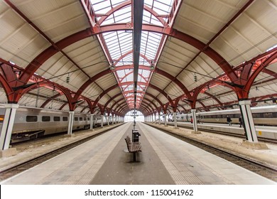
[[[0,104],[0,130],[4,121],[5,110],[4,104]],[[16,110],[11,143],[66,132],[68,119],[69,113],[65,111],[19,106]],[[104,117],[103,125],[107,125],[107,119],[108,117]],[[109,119],[111,124],[112,117]],[[93,125],[94,127],[101,126],[101,115],[94,115]],[[77,129],[89,129],[89,127],[90,114],[74,114],[73,131]]]

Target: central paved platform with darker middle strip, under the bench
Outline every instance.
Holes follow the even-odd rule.
[[[277,184],[140,122],[137,122],[136,129],[141,134],[142,152],[139,152],[137,162],[133,162],[124,140],[126,135],[131,136],[132,129],[131,122],[123,124],[0,183]],[[17,156],[19,158],[20,154]]]

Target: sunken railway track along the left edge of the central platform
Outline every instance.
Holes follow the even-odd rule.
[[[119,127],[119,126],[117,126]],[[21,173],[23,171],[28,170],[29,168],[32,168],[33,166],[36,166],[40,163],[43,163],[44,161],[49,160],[50,158],[53,158],[55,156],[58,156],[59,154],[63,154],[65,151],[68,151],[76,146],[79,146],[80,144],[85,143],[86,141],[89,141],[91,139],[94,139],[95,137],[104,134],[106,131],[110,131],[111,129],[107,129],[104,131],[99,132],[98,134],[94,134],[92,136],[87,136],[84,139],[75,141],[71,144],[68,144],[67,146],[60,147],[59,149],[55,149],[53,151],[50,151],[48,153],[42,154],[41,156],[37,156],[35,158],[32,158],[28,161],[25,161],[23,163],[19,163],[16,166],[13,166],[11,168],[7,168],[4,171],[0,172],[0,181],[4,181],[7,178],[10,178],[12,176],[15,176],[18,173]]]

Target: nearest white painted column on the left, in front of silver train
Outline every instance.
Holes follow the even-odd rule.
[[[11,132],[13,130],[13,123],[16,117],[16,109],[18,109],[18,107],[18,104],[5,104],[6,112],[0,134],[1,150],[9,149]]]

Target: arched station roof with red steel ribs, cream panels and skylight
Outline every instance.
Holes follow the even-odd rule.
[[[145,115],[276,104],[272,0],[0,1],[0,102]]]

